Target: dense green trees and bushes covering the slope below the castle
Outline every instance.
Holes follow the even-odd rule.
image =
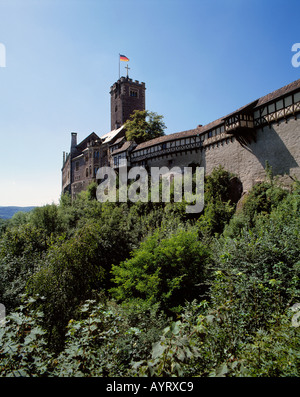
[[[1,376],[299,376],[300,184],[236,206],[99,203],[95,187],[0,228]]]

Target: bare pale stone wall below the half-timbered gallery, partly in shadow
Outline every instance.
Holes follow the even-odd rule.
[[[206,173],[221,165],[236,174],[243,190],[249,190],[265,178],[266,161],[274,175],[290,183],[290,176],[300,179],[300,115],[264,126],[256,132],[256,142],[243,147],[235,138],[204,149],[202,166]]]

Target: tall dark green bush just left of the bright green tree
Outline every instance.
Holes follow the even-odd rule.
[[[91,222],[77,230],[73,237],[62,237],[48,249],[43,267],[28,283],[30,295],[46,298],[43,311],[54,343],[62,343],[65,326],[76,307],[104,283],[107,258],[104,256],[102,260],[102,251],[106,249],[107,240],[103,242],[100,236],[99,225]]]

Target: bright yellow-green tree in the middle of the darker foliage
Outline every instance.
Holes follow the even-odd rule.
[[[195,228],[178,228],[170,235],[157,229],[130,259],[112,267],[116,287],[111,293],[119,300],[160,302],[163,310],[176,311],[203,293],[199,283],[205,280],[208,258]]]

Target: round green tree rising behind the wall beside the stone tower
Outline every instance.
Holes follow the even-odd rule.
[[[163,116],[148,110],[135,110],[125,123],[126,139],[137,144],[165,135]]]

